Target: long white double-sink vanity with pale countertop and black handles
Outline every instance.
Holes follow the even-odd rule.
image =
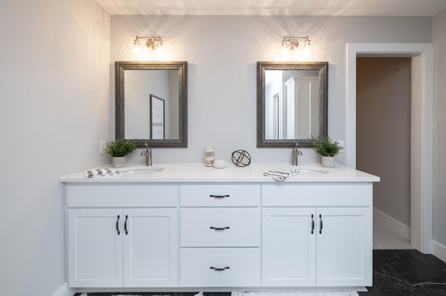
[[[286,164],[156,167],[61,179],[70,287],[371,286],[377,176],[339,165],[299,165],[285,181],[263,172]]]

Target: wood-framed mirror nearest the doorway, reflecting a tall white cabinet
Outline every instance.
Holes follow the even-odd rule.
[[[279,74],[277,92],[271,92],[270,87],[267,90],[272,74]],[[307,99],[298,102],[298,97],[304,94]],[[298,106],[304,107],[298,110]],[[305,124],[300,124],[296,115],[305,115],[302,110],[309,110]],[[305,137],[296,137],[302,135],[298,129],[303,125]],[[296,142],[299,147],[313,147],[314,141],[325,135],[328,135],[328,62],[257,62],[257,147],[293,147]]]

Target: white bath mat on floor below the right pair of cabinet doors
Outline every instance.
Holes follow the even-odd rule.
[[[353,290],[233,291],[231,296],[358,296]]]

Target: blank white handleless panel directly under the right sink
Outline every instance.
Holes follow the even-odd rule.
[[[265,184],[262,206],[371,206],[371,183]]]

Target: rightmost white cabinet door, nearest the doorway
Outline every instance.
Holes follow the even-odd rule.
[[[371,208],[317,209],[317,285],[371,286]]]

